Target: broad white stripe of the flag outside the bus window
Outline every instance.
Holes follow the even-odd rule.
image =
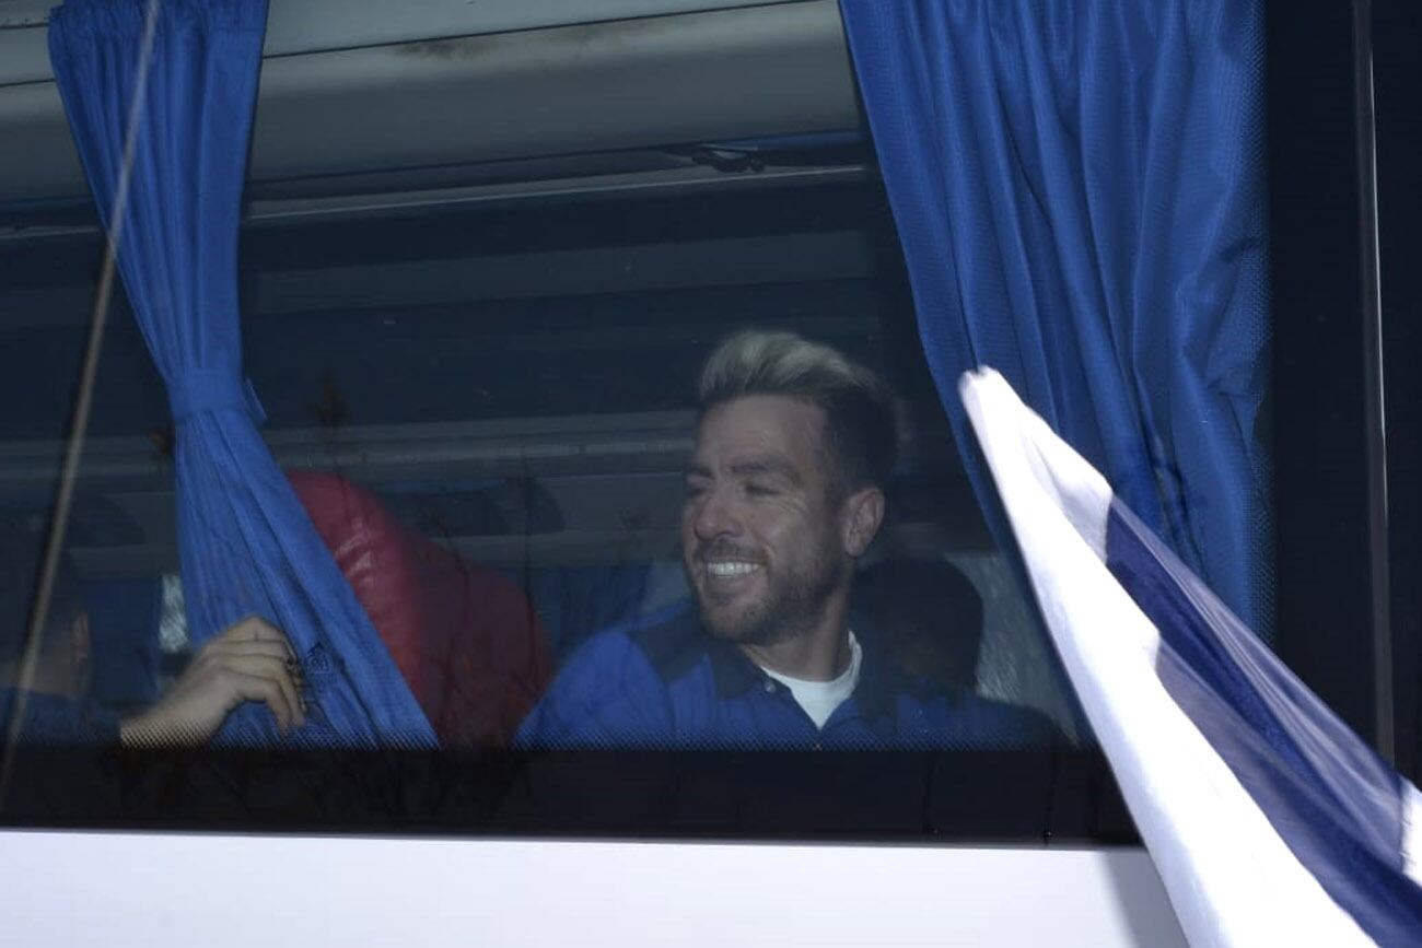
[[[960,382],[1032,588],[1192,945],[1372,944],[1155,672],[1159,631],[1102,560],[1112,493],[1001,375]]]

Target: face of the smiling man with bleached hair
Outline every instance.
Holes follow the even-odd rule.
[[[747,645],[809,631],[849,581],[820,449],[825,414],[781,395],[711,408],[697,429],[681,556],[707,630]]]

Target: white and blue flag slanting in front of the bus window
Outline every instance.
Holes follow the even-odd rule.
[[[1192,945],[1422,944],[1422,797],[993,370],[960,392]]]

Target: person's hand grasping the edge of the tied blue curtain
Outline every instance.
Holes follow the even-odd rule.
[[[306,723],[299,665],[286,635],[250,615],[203,645],[162,701],[119,725],[127,748],[199,745],[233,708],[264,702],[286,733]]]

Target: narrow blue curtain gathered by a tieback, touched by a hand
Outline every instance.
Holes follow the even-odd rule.
[[[290,637],[311,692],[310,723],[290,740],[432,746],[419,706],[257,433],[262,409],[242,374],[237,216],[264,30],[266,0],[70,0],[50,16],[50,60],[168,385],[193,642],[262,615]],[[266,708],[245,705],[219,740],[279,736]]]

